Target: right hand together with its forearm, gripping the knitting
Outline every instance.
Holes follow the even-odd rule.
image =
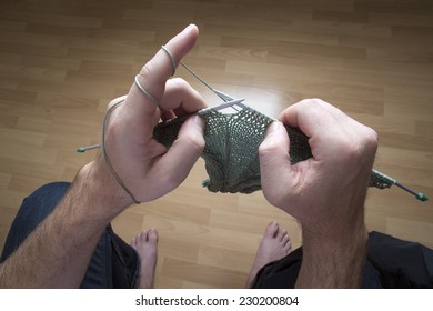
[[[289,107],[280,120],[310,139],[312,158],[291,165],[289,137],[273,123],[260,146],[269,202],[302,224],[298,288],[358,288],[366,258],[364,200],[376,133],[322,100]]]

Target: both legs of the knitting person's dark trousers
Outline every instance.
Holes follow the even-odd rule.
[[[0,258],[3,262],[37,225],[49,215],[67,193],[70,183],[43,185],[24,199],[11,225]],[[263,267],[252,288],[293,288],[302,263],[302,248]],[[140,260],[134,249],[108,225],[93,252],[81,288],[135,288]],[[372,232],[364,288],[433,288],[433,251],[413,242]]]

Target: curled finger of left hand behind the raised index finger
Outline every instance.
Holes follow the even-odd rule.
[[[174,110],[175,116],[197,112],[207,107],[202,96],[180,78],[167,81],[161,106],[165,110]]]

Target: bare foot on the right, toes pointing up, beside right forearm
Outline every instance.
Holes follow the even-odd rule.
[[[258,253],[255,254],[254,263],[251,268],[250,275],[246,280],[246,288],[250,287],[251,282],[258,274],[259,270],[275,260],[282,259],[292,251],[292,244],[288,231],[281,229],[276,222],[268,224],[266,231],[264,232],[262,242],[259,245]]]

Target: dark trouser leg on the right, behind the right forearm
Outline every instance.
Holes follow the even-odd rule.
[[[380,232],[371,232],[362,287],[433,288],[433,251]],[[302,248],[263,267],[251,288],[294,288],[302,263]]]

